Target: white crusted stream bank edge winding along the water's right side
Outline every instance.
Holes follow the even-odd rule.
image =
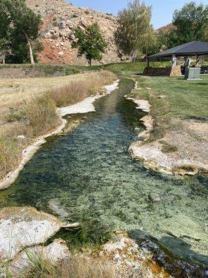
[[[135,79],[135,88],[130,92],[129,95],[134,95],[134,90],[142,90],[142,88],[138,87],[138,82]],[[150,88],[146,88],[151,90]],[[163,98],[164,96],[161,96]],[[138,134],[139,140],[134,142],[130,146],[130,153],[132,158],[135,158],[139,161],[142,161],[144,165],[148,169],[152,169],[154,171],[163,172],[166,174],[180,174],[184,176],[185,174],[188,175],[195,175],[195,174],[205,174],[208,175],[208,165],[205,163],[201,163],[194,159],[187,159],[187,158],[180,158],[175,157],[173,153],[166,154],[162,151],[164,148],[164,143],[166,143],[167,138],[169,137],[169,141],[171,142],[171,138],[178,137],[177,133],[175,135],[164,136],[164,138],[159,140],[153,140],[152,142],[148,142],[150,139],[150,133],[154,129],[154,119],[151,115],[150,111],[150,104],[146,99],[135,99],[133,97],[129,97],[128,95],[125,96],[126,99],[131,100],[137,104],[136,109],[140,109],[148,113],[146,116],[142,117],[140,120],[146,126],[146,130],[142,131]],[[180,142],[177,142],[180,144]],[[171,145],[170,145],[171,146]],[[178,145],[174,146],[175,148]],[[188,146],[189,147],[189,146]]]

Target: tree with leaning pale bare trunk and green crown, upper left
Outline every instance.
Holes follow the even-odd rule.
[[[4,6],[4,15],[10,19],[10,24],[15,30],[15,40],[24,42],[28,46],[28,53],[33,65],[32,42],[37,40],[41,24],[40,15],[35,15],[33,10],[26,6],[24,0],[1,0]]]

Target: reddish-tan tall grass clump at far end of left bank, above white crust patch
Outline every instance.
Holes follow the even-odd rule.
[[[103,85],[107,85],[115,79],[116,76],[112,72],[103,71],[98,76],[92,76],[91,79],[72,81],[61,88],[53,89],[50,95],[56,106],[68,106],[101,92]]]

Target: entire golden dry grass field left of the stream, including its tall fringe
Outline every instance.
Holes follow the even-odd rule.
[[[3,80],[0,92],[0,179],[17,166],[25,147],[60,124],[56,106],[67,106],[101,92],[103,85],[114,80],[116,76],[107,71],[64,78]],[[19,140],[17,136],[25,138]]]

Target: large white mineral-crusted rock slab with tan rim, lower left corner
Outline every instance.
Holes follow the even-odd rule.
[[[64,223],[36,208],[10,207],[0,211],[0,265],[25,247],[45,243]]]

